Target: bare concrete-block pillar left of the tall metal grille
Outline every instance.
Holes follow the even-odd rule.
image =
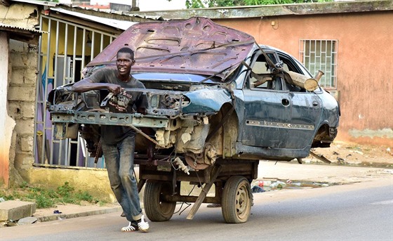
[[[11,79],[8,86],[8,115],[15,120],[15,159],[11,166],[25,180],[32,168],[34,114],[36,100],[37,48],[21,41],[10,40]],[[11,181],[16,181],[11,178]]]

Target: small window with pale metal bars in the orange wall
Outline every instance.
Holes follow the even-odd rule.
[[[327,89],[337,88],[338,41],[333,39],[300,39],[300,60],[313,75],[318,70],[325,74],[319,84]]]

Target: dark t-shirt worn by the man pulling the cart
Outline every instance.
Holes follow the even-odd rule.
[[[118,72],[116,69],[112,68],[102,68],[97,70],[89,77],[93,83],[109,83],[109,84],[119,84],[125,89],[145,89],[142,82],[138,81],[131,76],[129,82],[122,82],[117,78]],[[115,113],[133,113],[136,110],[147,108],[147,98],[141,92],[135,91],[122,91],[117,96],[112,96],[112,98],[107,101],[107,108],[109,112]],[[128,126],[101,126],[101,140],[102,143],[107,145],[114,145],[123,141],[127,136],[135,136],[135,131]]]

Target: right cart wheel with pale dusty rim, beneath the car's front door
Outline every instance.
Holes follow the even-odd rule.
[[[222,216],[226,223],[246,223],[251,213],[250,183],[243,176],[231,176],[222,191]]]

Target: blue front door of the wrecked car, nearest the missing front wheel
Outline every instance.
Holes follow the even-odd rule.
[[[274,51],[267,56],[277,63]],[[251,60],[253,72],[270,72],[265,56],[255,53]],[[291,120],[291,96],[284,90],[284,82],[277,77],[271,82],[253,86],[256,79],[248,74],[244,86],[244,123],[241,135],[243,145],[269,148],[285,148],[288,138],[288,124]]]

